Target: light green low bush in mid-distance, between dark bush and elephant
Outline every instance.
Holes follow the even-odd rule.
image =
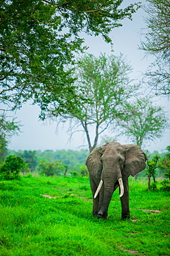
[[[40,174],[45,174],[46,176],[60,175],[65,171],[65,164],[61,163],[61,161],[54,161],[54,163],[40,161],[39,169]]]

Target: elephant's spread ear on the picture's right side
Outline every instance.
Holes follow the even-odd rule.
[[[126,149],[123,173],[134,177],[138,172],[142,172],[145,169],[147,157],[138,145],[127,144],[123,145],[123,147]]]

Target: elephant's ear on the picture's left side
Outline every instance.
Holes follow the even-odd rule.
[[[86,165],[89,171],[89,174],[96,177],[96,179],[100,179],[102,172],[102,162],[100,161],[101,156],[103,155],[103,151],[105,151],[105,146],[96,147],[92,150],[92,152],[87,157]]]

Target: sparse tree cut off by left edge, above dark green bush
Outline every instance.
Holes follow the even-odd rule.
[[[3,111],[0,115],[0,163],[3,163],[6,158],[10,137],[20,131],[19,122],[15,121],[16,118],[12,118],[12,121],[8,121],[7,118]]]

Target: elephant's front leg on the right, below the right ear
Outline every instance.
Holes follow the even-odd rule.
[[[129,212],[129,184],[128,178],[123,179],[123,186],[124,186],[124,194],[120,197],[121,205],[122,205],[122,219],[129,219],[130,212]]]

